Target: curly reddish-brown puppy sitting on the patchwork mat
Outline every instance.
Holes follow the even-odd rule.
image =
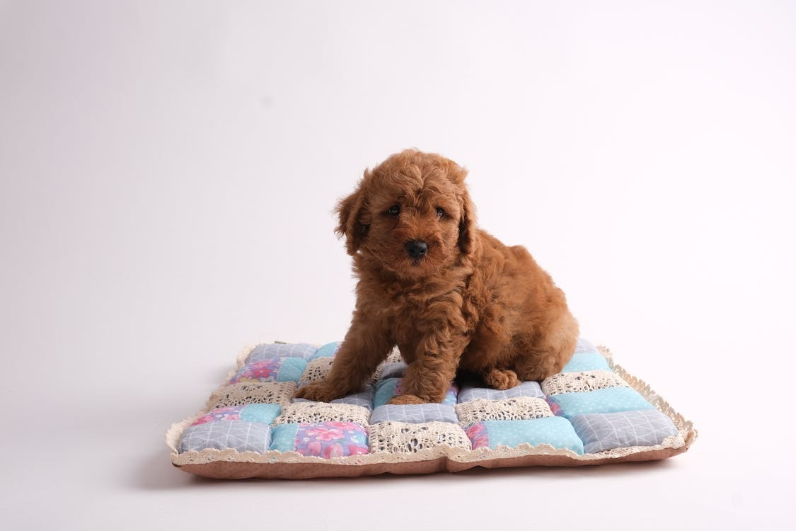
[[[296,396],[328,401],[359,392],[398,346],[408,363],[391,404],[441,402],[457,370],[510,388],[557,373],[578,324],[564,292],[525,248],[475,225],[466,171],[406,150],[338,204],[356,273],[357,306],[325,380]]]

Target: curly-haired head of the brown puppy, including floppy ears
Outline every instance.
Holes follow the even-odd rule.
[[[473,252],[474,207],[467,172],[438,154],[405,150],[365,170],[338,203],[339,236],[361,254],[406,279],[433,275]]]

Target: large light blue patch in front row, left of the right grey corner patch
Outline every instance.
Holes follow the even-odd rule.
[[[521,443],[550,444],[556,448],[569,448],[583,454],[580,440],[568,420],[548,416],[533,420],[486,420],[484,426],[489,434],[490,448],[498,446],[516,447]]]

